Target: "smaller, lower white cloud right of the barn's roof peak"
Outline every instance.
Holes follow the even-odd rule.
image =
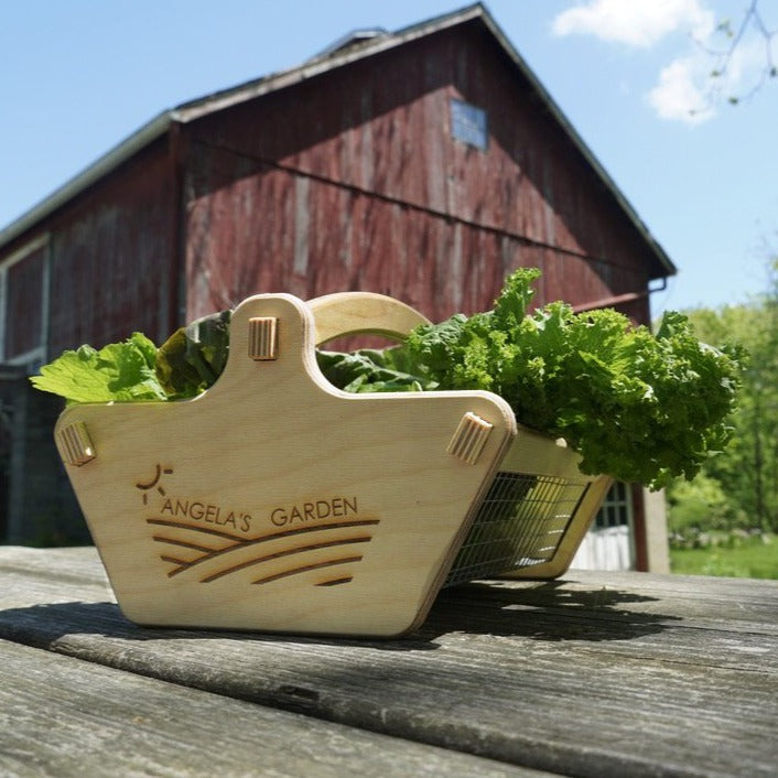
[[[663,67],[659,83],[646,96],[662,119],[699,125],[713,118],[715,110],[700,88],[701,60],[681,57]]]

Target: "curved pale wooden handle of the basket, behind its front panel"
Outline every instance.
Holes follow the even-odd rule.
[[[316,322],[316,345],[346,335],[381,335],[402,341],[430,320],[410,305],[375,292],[336,292],[310,300]]]

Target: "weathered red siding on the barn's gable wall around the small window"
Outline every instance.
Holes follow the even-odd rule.
[[[487,111],[486,151],[451,138],[452,97]],[[543,270],[538,302],[573,304],[644,291],[656,272],[479,26],[207,117],[190,140],[191,317],[259,291],[363,289],[440,318],[490,305],[519,266]]]

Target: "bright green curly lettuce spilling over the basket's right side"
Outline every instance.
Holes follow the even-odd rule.
[[[680,313],[655,336],[607,309],[529,312],[539,274],[517,271],[493,311],[419,327],[390,349],[406,382],[500,395],[520,423],[575,449],[584,473],[655,489],[692,478],[730,439],[744,352],[700,343]],[[378,371],[374,383],[360,370],[356,390],[382,390]]]

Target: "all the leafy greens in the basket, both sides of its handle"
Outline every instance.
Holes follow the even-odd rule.
[[[383,350],[318,352],[318,366],[349,392],[484,389],[517,420],[563,437],[584,473],[659,488],[692,478],[726,445],[745,354],[700,343],[680,313],[656,335],[620,313],[575,313],[562,302],[530,310],[540,273],[506,279],[494,310],[414,329]],[[68,402],[183,399],[224,370],[230,312],[175,332],[159,349],[136,333],[96,352],[66,352],[32,379]]]

